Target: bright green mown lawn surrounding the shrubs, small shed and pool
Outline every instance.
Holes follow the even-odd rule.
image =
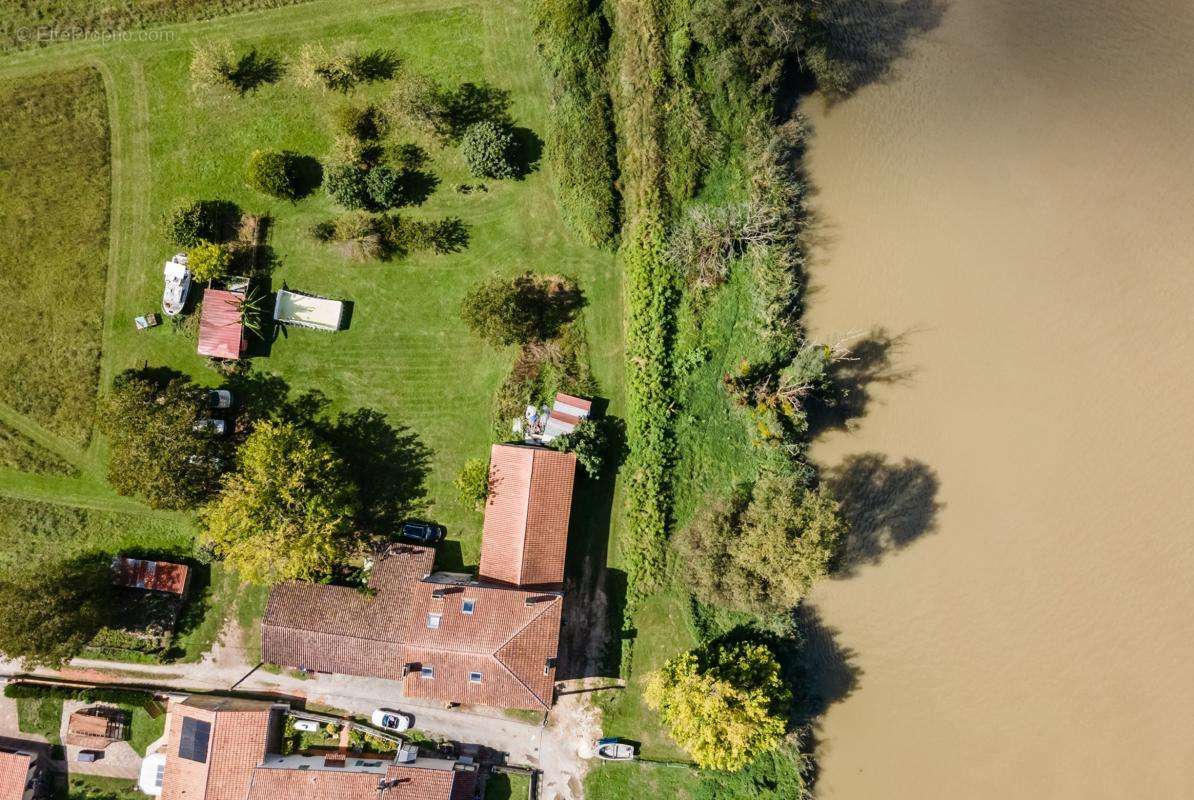
[[[60,7],[86,6],[68,2]],[[5,13],[11,23],[16,12],[0,11],[0,18]],[[266,356],[254,358],[254,369],[277,376],[293,393],[322,393],[328,413],[374,408],[395,427],[405,426],[418,436],[432,454],[426,516],[449,529],[442,561],[449,567],[474,565],[481,517],[458,501],[451,481],[467,459],[487,454],[493,394],[515,353],[487,347],[468,334],[457,315],[461,297],[473,283],[493,273],[534,270],[576,278],[589,301],[583,326],[591,365],[602,395],[610,400],[610,412],[617,414],[621,281],[613,256],[584,247],[565,232],[552,181],[542,170],[521,180],[491,180],[488,191],[464,195],[454,186],[476,180],[468,177],[455,148],[420,141],[431,156],[426,168],[438,185],[423,205],[401,213],[421,219],[457,216],[468,226],[468,246],[453,254],[417,254],[393,263],[346,261],[307,235],[314,222],[339,213],[321,190],[296,203],[272,201],[247,189],[242,171],[257,148],[288,148],[326,159],[332,147],[331,113],[346,99],[377,98],[388,87],[373,85],[345,98],[301,88],[283,68],[277,82],[244,97],[221,97],[195,93],[187,72],[195,44],[211,38],[228,38],[241,51],[257,48],[283,63],[307,42],[384,48],[398,55],[402,68],[432,74],[448,86],[487,81],[509,91],[515,123],[541,131],[546,92],[522,5],[512,0],[347,5],[315,0],[160,30],[164,36],[155,41],[80,38],[0,57],[0,81],[39,85],[50,70],[84,66],[97,72],[72,74],[103,76],[112,201],[110,250],[106,258],[100,254],[96,260],[100,282],[91,293],[93,313],[101,320],[97,328],[101,346],[91,351],[92,358],[98,356],[93,370],[100,390],[121,370],[147,362],[179,369],[204,384],[220,382],[195,353],[192,338],[170,325],[146,332],[133,327],[135,315],[159,308],[161,263],[174,252],[159,221],[181,197],[229,201],[246,213],[269,215],[272,288],[285,284],[344,299],[352,302],[352,314],[349,330],[340,333],[288,331]],[[36,161],[36,154],[30,159]],[[63,227],[68,227],[66,220],[32,229],[53,238]],[[105,263],[110,265],[106,283],[101,277]],[[0,282],[10,264],[0,260]],[[39,296],[38,313],[54,313],[51,300]],[[30,359],[30,349],[17,344],[12,357]],[[88,390],[93,398],[94,377]],[[0,543],[11,541],[13,554],[47,553],[60,547],[54,530],[61,528],[72,531],[69,548],[190,552],[193,522],[187,516],[148,512],[107,486],[101,436],[87,438],[91,429],[80,425],[68,439],[23,411],[0,405],[0,423],[49,448],[75,472],[36,474],[29,463],[5,462],[0,455],[0,496],[8,498],[5,503],[25,504],[0,509]],[[122,521],[130,519],[127,515],[136,518],[124,525]],[[604,537],[609,523],[601,519],[602,530],[592,535]],[[201,601],[202,619],[190,621],[189,633],[176,642],[178,656],[197,659],[219,634],[222,620],[232,617],[246,626],[252,657],[259,648],[256,622],[264,592],[240,586],[235,576],[214,565]]]

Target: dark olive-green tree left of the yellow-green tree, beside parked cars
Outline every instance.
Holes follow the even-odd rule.
[[[110,445],[107,480],[119,494],[154,509],[192,509],[215,492],[228,444],[195,430],[203,400],[204,390],[177,373],[117,376],[99,421]]]

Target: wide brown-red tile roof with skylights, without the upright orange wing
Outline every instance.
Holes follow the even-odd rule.
[[[412,666],[405,677],[412,696],[550,706],[561,595],[427,576],[433,559],[430,548],[395,548],[373,570],[371,597],[344,586],[277,586],[261,626],[264,660],[392,681]],[[470,614],[464,601],[472,601]],[[432,614],[437,627],[429,627]],[[435,677],[421,677],[423,666]],[[479,682],[472,672],[481,675]]]

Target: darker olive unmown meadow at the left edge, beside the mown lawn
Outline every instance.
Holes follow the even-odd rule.
[[[94,69],[0,82],[0,396],[75,445],[96,404],[109,130]]]

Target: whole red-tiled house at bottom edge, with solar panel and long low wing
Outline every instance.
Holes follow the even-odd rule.
[[[155,789],[161,800],[473,798],[476,768],[472,764],[413,753],[406,759],[282,755],[285,712],[284,704],[227,697],[172,703],[160,781],[143,788]]]

